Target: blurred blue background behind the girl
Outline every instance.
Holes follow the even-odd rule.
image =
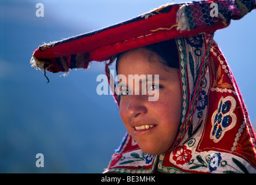
[[[35,5],[44,4],[44,17]],[[96,93],[104,64],[44,73],[30,67],[44,42],[149,12],[165,0],[0,1],[0,172],[102,173],[126,130],[111,95]],[[175,3],[187,1],[173,1]],[[256,127],[255,10],[215,33]],[[44,154],[44,168],[35,166]]]

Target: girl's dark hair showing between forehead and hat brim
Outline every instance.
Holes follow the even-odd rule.
[[[179,69],[179,54],[178,54],[178,49],[177,49],[175,39],[154,43],[152,45],[143,46],[142,48],[154,54],[157,54],[157,56],[163,59],[163,60],[160,60],[160,62],[165,66]],[[118,61],[121,59],[122,56],[124,56],[125,53],[128,53],[128,52],[129,51],[125,51],[123,53],[119,53],[116,55],[117,57],[116,71],[118,68]]]

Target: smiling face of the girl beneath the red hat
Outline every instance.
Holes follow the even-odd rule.
[[[128,75],[135,74],[159,75],[158,100],[149,101],[148,94],[135,95],[133,90],[132,95],[120,95],[120,116],[140,149],[158,155],[170,149],[176,138],[181,119],[182,97],[179,71],[161,64],[156,54],[151,53],[150,62],[149,52],[140,48],[124,54],[118,61],[118,75],[122,74],[126,79]],[[127,89],[135,89],[128,87],[128,82],[126,86]],[[154,88],[151,90],[156,92]]]

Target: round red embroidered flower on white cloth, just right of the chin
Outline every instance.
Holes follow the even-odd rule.
[[[176,164],[183,165],[190,161],[190,159],[192,158],[191,153],[192,151],[188,150],[186,145],[179,146],[174,150],[173,152],[174,156],[172,156],[172,159],[176,161]]]

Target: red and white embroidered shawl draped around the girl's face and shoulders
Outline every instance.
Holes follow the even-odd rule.
[[[127,134],[105,172],[256,173],[255,135],[236,81],[211,34],[176,38],[183,97],[171,150],[146,154]]]

